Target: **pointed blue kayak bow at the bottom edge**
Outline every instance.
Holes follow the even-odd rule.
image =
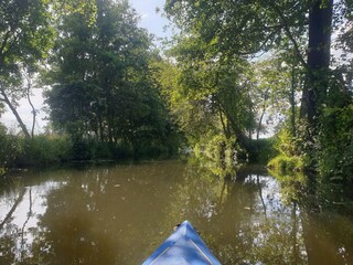
[[[190,222],[184,221],[142,265],[221,265]]]

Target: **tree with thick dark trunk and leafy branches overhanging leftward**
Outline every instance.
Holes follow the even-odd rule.
[[[292,46],[308,72],[302,116],[313,118],[322,102],[317,72],[329,70],[333,1],[167,1],[165,10],[186,34],[196,32],[212,42],[214,54],[254,55]],[[299,45],[307,33],[308,60]]]

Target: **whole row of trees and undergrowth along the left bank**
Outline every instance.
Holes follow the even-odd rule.
[[[161,57],[128,1],[2,1],[0,7],[1,107],[10,108],[24,137],[4,148],[2,163],[17,160],[8,159],[8,152],[26,160],[25,153],[34,149],[55,148],[50,144],[54,136],[46,137],[45,145],[34,139],[31,89],[45,85],[50,127],[64,137],[55,140],[64,145],[60,157],[176,150],[179,136],[151,66]],[[24,97],[32,106],[31,129],[17,110]],[[1,136],[11,141],[7,129]],[[44,146],[33,148],[38,145]]]

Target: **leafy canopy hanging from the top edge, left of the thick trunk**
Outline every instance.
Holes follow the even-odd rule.
[[[288,44],[286,26],[292,35],[302,35],[309,4],[292,0],[168,0],[165,11],[183,32],[199,34],[214,52],[244,55]]]

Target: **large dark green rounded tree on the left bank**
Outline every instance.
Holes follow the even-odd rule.
[[[138,19],[127,1],[103,0],[94,23],[82,13],[63,18],[47,75],[56,129],[136,152],[141,141],[165,136],[167,112],[150,68],[158,55]]]

